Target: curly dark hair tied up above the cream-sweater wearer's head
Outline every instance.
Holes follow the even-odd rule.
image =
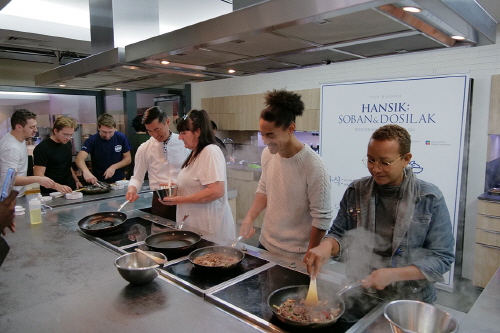
[[[304,112],[304,102],[300,95],[291,91],[274,89],[268,91],[264,99],[267,107],[260,113],[260,118],[274,122],[276,127],[288,128]]]

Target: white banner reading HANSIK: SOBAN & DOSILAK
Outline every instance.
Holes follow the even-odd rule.
[[[411,135],[410,165],[443,192],[456,239],[469,96],[467,75],[324,84],[320,154],[332,184],[334,214],[347,186],[369,176],[363,165],[371,134],[396,124]],[[454,266],[442,289],[453,289]]]

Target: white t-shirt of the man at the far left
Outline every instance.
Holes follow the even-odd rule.
[[[12,134],[7,133],[0,140],[0,182],[3,183],[7,170],[14,168],[18,176],[26,177],[28,173],[28,148],[23,141],[19,142]],[[24,195],[26,186],[14,186],[19,196]]]

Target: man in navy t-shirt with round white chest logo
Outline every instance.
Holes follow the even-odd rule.
[[[130,164],[130,143],[125,134],[116,130],[112,115],[105,113],[97,118],[98,133],[85,140],[76,156],[76,165],[83,171],[83,178],[91,184],[98,180],[114,183],[124,179],[125,167]],[[85,159],[90,154],[92,172]]]

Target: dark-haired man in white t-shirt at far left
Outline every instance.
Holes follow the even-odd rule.
[[[27,176],[28,174],[28,149],[25,140],[33,137],[36,128],[36,114],[25,109],[16,110],[10,118],[12,131],[0,140],[0,182],[3,182],[9,168],[17,170],[14,190],[19,196],[24,195],[28,184],[39,183],[40,185],[53,188],[55,183],[52,179],[43,176]]]

